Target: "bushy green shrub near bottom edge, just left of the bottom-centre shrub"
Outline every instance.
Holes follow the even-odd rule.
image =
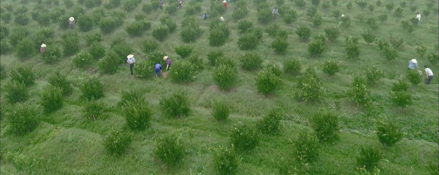
[[[185,147],[183,146],[182,139],[174,135],[160,137],[156,141],[154,155],[168,166],[180,163],[183,156],[185,156]]]

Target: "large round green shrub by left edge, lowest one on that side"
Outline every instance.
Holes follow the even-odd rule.
[[[30,103],[19,103],[14,106],[9,116],[9,124],[12,133],[25,135],[36,129],[40,111]]]

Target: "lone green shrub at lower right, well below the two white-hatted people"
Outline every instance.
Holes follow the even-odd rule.
[[[379,122],[377,124],[378,140],[384,146],[394,146],[394,144],[403,139],[403,135],[403,132],[394,122]]]

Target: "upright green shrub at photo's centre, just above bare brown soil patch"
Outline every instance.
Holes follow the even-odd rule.
[[[215,67],[213,81],[220,90],[230,90],[237,81],[237,68],[228,64],[219,64]]]

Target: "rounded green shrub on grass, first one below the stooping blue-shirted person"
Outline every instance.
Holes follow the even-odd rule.
[[[173,70],[174,71],[174,70]],[[160,100],[161,109],[169,118],[189,116],[191,112],[189,98],[183,92],[174,92]]]

